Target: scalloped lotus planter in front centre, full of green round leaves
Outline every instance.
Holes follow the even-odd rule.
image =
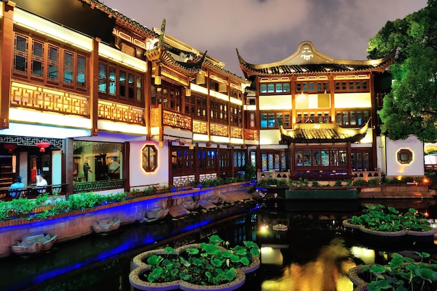
[[[209,243],[141,253],[133,258],[129,281],[139,290],[235,290],[260,266],[259,248],[253,241],[222,245],[229,246],[213,235]]]

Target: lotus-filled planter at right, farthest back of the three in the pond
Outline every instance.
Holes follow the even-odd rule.
[[[424,214],[410,208],[400,213],[394,207],[383,204],[366,205],[363,214],[343,221],[346,230],[362,232],[364,237],[377,241],[403,243],[431,243],[437,229],[424,218]]]

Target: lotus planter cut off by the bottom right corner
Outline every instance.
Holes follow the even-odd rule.
[[[355,291],[431,291],[437,290],[437,264],[423,262],[429,253],[415,252],[420,262],[392,254],[388,264],[366,264],[353,267],[348,276]]]

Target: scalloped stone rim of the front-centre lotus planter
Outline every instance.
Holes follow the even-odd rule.
[[[199,244],[189,244],[182,246],[175,250],[175,253],[170,253],[170,255],[179,255],[183,253],[187,248],[200,248]],[[221,248],[221,247],[218,247]],[[225,248],[221,248],[225,251]],[[240,288],[246,281],[246,274],[249,274],[260,267],[260,259],[256,256],[253,257],[251,264],[247,267],[242,267],[236,269],[237,277],[227,283],[221,285],[198,285],[194,283],[188,283],[184,280],[177,280],[165,283],[151,283],[140,278],[143,274],[151,270],[151,266],[147,264],[147,258],[151,255],[162,255],[168,256],[169,254],[165,252],[164,249],[157,249],[154,251],[147,251],[145,253],[140,253],[133,258],[133,270],[129,274],[129,282],[131,285],[138,290],[148,290],[148,291],[166,291],[166,290],[177,290],[181,289],[184,291],[198,291],[198,290],[221,290],[221,291],[231,291]]]

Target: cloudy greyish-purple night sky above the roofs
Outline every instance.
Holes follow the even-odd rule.
[[[251,64],[280,61],[302,41],[335,59],[366,59],[370,38],[387,21],[427,6],[426,0],[101,0],[145,27],[223,61],[239,76],[235,48]]]

